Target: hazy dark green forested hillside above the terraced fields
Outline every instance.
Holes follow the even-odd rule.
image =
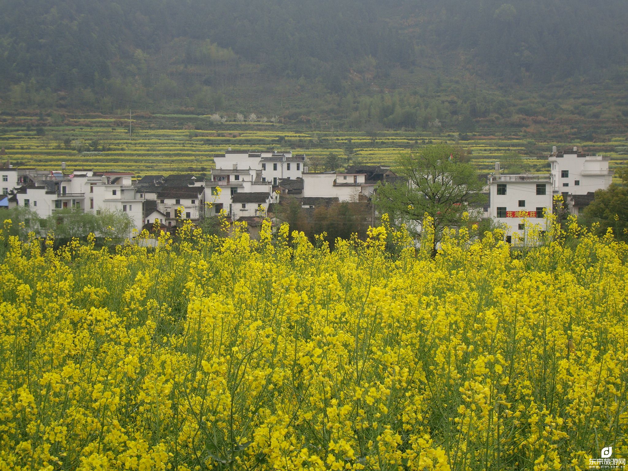
[[[625,1],[502,1],[0,0],[3,109],[461,132],[628,115]]]

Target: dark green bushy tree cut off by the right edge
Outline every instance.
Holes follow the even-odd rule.
[[[597,190],[595,200],[585,208],[583,220],[598,223],[598,234],[612,229],[617,239],[628,241],[628,169],[617,171],[622,183],[613,183],[606,190]]]

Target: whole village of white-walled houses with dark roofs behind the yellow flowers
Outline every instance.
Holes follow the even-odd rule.
[[[570,212],[580,214],[593,200],[595,190],[609,187],[612,181],[608,157],[554,147],[548,160],[548,174],[502,174],[499,163],[495,163],[494,173],[487,176],[485,194],[489,202],[478,217],[501,223],[509,242],[514,234],[524,237],[526,220],[544,224],[544,214],[553,210],[553,195],[562,194]],[[364,203],[371,200],[377,183],[399,179],[382,166],[311,172],[305,155],[291,151],[228,149],[215,154],[214,161],[216,167],[206,178],[146,175],[139,180],[129,172],[65,173],[8,165],[0,168],[0,207],[28,207],[41,218],[67,209],[95,214],[118,211],[126,213],[138,231],[155,220],[168,230],[178,220],[198,222],[222,212],[230,220],[246,221],[255,232],[280,198],[300,198],[304,210],[334,202]]]

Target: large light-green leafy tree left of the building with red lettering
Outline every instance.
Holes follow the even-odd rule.
[[[424,217],[430,216],[435,234],[432,252],[436,254],[443,229],[460,225],[469,205],[484,202],[484,183],[473,165],[460,161],[459,149],[444,144],[401,154],[396,168],[404,181],[379,185],[374,195],[376,207],[415,233],[426,229]]]

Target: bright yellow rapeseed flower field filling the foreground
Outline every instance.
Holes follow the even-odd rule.
[[[156,248],[0,233],[0,470],[549,470],[628,445],[628,249],[384,220]],[[148,237],[148,234],[143,234]],[[428,236],[429,237],[429,234]],[[430,246],[430,244],[426,244]]]

